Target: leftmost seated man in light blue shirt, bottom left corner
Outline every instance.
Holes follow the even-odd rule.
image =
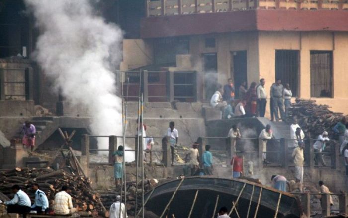
[[[12,186],[12,192],[14,197],[11,201],[6,201],[7,213],[27,214],[30,212],[30,198],[29,196],[20,190],[19,185]]]

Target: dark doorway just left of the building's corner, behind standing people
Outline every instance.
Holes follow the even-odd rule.
[[[235,96],[239,96],[239,87],[243,82],[247,82],[247,51],[232,52],[232,73],[234,86],[236,89]]]

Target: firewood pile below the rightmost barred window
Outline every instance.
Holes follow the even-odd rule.
[[[316,138],[323,131],[335,138],[332,129],[343,117],[342,113],[334,113],[329,110],[329,106],[317,105],[314,100],[296,99],[289,111],[290,116],[297,118],[302,130],[311,138]]]

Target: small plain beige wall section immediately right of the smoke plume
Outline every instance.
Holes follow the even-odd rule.
[[[123,59],[120,64],[120,70],[126,71],[153,63],[152,41],[145,42],[142,39],[124,39],[123,40]]]

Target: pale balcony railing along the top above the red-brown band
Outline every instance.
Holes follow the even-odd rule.
[[[146,0],[148,17],[254,9],[347,10],[347,0]]]

